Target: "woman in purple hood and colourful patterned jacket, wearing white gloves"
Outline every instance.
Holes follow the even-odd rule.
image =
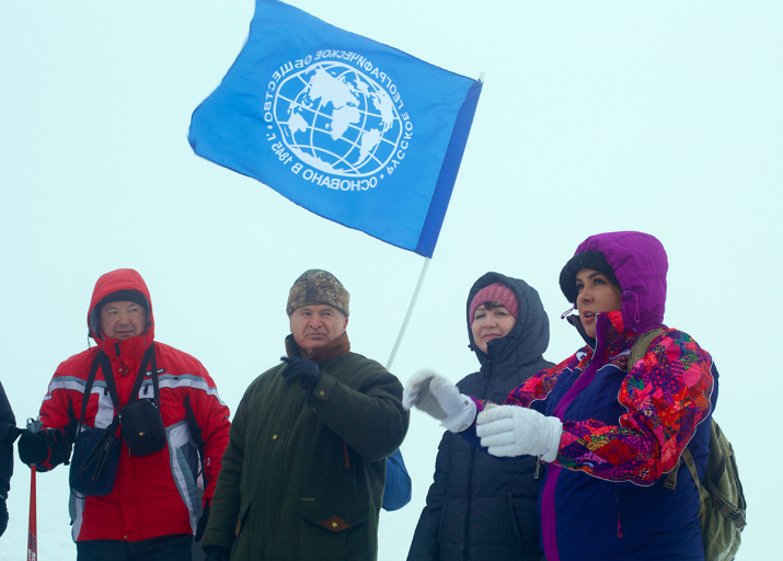
[[[431,371],[405,389],[404,404],[488,454],[539,457],[549,561],[704,559],[690,472],[679,470],[673,490],[664,481],[686,446],[704,474],[717,370],[690,335],[663,323],[667,268],[652,236],[592,236],[560,276],[586,346],[515,388],[504,405],[461,394]],[[664,331],[629,364],[634,342],[654,329]]]

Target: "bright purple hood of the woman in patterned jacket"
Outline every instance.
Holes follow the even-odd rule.
[[[574,254],[584,251],[600,251],[614,270],[625,329],[644,333],[664,325],[669,262],[657,238],[634,231],[598,233],[583,241]]]

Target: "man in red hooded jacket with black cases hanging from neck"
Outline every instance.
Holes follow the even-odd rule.
[[[154,341],[149,290],[136,271],[97,279],[88,327],[96,346],[58,366],[36,428],[20,438],[20,458],[48,471],[68,462],[76,443],[70,514],[78,561],[189,561],[228,444],[229,410],[201,363]],[[118,459],[80,461],[91,432],[115,436]],[[107,494],[74,483],[84,466],[114,477],[97,492]]]

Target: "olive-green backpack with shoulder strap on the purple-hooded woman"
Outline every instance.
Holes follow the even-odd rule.
[[[663,332],[663,329],[656,329],[647,331],[638,337],[631,347],[629,369],[647,354],[653,340]],[[732,443],[728,442],[714,419],[710,430],[710,457],[704,472],[704,481],[699,481],[693,456],[686,448],[675,469],[666,476],[664,486],[667,489],[677,486],[677,472],[682,461],[688,466],[699,489],[699,522],[702,528],[704,559],[706,561],[732,561],[737,554],[741,540],[740,534],[746,526],[747,503],[742,493],[742,483],[739,481]]]

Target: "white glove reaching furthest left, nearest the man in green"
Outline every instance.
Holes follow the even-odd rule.
[[[402,392],[402,407],[413,407],[440,420],[452,433],[460,433],[473,424],[475,403],[457,386],[431,370],[414,374]]]

